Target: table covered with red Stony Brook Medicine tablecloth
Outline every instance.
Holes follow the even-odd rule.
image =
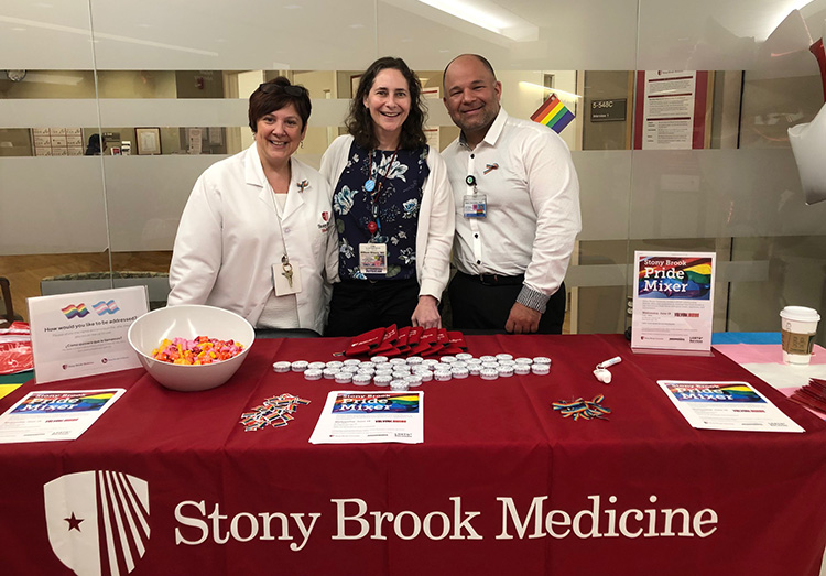
[[[52,537],[138,519],[122,520],[123,544],[93,542],[86,555],[119,558],[119,574],[818,574],[816,415],[717,352],[634,355],[620,335],[467,341],[476,356],[550,356],[551,374],[425,383],[420,445],[307,443],[341,387],[271,363],[328,360],[343,338],[257,341],[230,382],[198,393],[162,389],[142,369],[46,384],[128,392],[75,442],[0,445],[3,574],[70,574],[50,550],[44,485],[91,470],[111,474],[70,477],[89,491],[58,490],[80,512],[52,519],[63,531]],[[598,383],[594,366],[617,355],[613,382]],[[806,433],[692,428],[657,379],[749,382]],[[285,427],[243,431],[242,412],[284,392],[312,403]],[[597,394],[608,422],[550,407]]]

